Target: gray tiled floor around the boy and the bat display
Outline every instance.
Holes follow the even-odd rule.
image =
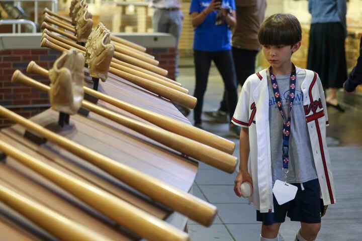
[[[180,60],[178,81],[183,87],[194,91],[194,68],[192,59]],[[223,85],[218,71],[210,71],[209,84],[204,100],[204,110],[217,109],[222,96]],[[337,203],[328,207],[322,218],[322,228],[317,240],[362,240],[362,112],[347,109],[343,114],[329,110],[328,145],[333,176],[336,186]],[[192,121],[192,113],[188,116]],[[204,116],[204,128],[236,143],[234,156],[239,156],[239,141],[228,135],[227,124],[207,121]],[[207,200],[218,207],[218,215],[213,225],[206,228],[193,221],[189,222],[191,240],[259,240],[260,223],[256,221],[255,210],[246,200],[238,198],[233,192],[236,172],[227,174],[203,163],[196,177],[194,195]],[[282,225],[280,234],[285,241],[293,241],[299,229],[299,223],[287,221]]]

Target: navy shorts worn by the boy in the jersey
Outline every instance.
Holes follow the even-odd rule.
[[[292,221],[320,223],[321,199],[318,179],[303,183],[303,191],[300,183],[292,183],[292,185],[298,187],[294,200],[279,205],[273,195],[274,212],[256,211],[256,220],[261,221],[264,225],[272,225],[275,222],[285,222],[287,215]]]

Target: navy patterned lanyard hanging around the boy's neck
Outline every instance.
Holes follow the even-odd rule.
[[[283,109],[282,109],[282,99],[281,99],[281,96],[279,93],[277,78],[272,73],[272,67],[270,67],[270,69],[269,69],[270,81],[272,81],[274,97],[276,99],[279,111],[283,117],[283,155],[282,155],[283,170],[288,169],[288,164],[289,164],[289,136],[291,133],[291,114],[292,114],[292,107],[293,107],[294,96],[295,96],[296,78],[297,78],[296,69],[295,69],[294,65],[293,65],[293,69],[294,70],[291,73],[290,84],[289,84],[289,87],[290,87],[290,90],[289,90],[290,110],[289,110],[289,116],[287,118],[287,121],[285,121],[285,118],[284,118],[284,113],[283,113]],[[287,176],[287,173],[288,173],[288,170],[287,170],[287,172],[285,172],[286,176]]]

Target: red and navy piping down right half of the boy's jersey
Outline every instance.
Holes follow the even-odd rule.
[[[309,99],[310,99],[310,102],[312,103],[313,102],[313,96],[312,96],[312,88],[316,82],[316,79],[317,79],[317,73],[314,72],[314,78],[313,78],[313,81],[311,83],[311,85],[309,86]],[[316,110],[313,111],[315,116],[317,116],[320,112],[317,112]],[[323,112],[323,115],[324,115],[324,112]],[[308,117],[307,117],[308,118]],[[317,131],[317,135],[318,135],[318,142],[319,142],[319,151],[320,151],[320,154],[321,154],[321,157],[322,157],[322,162],[323,162],[323,168],[324,168],[324,175],[326,177],[326,182],[327,182],[327,187],[328,187],[328,193],[329,193],[329,198],[330,198],[330,201],[331,201],[331,204],[333,204],[335,201],[334,201],[334,198],[333,198],[333,193],[332,193],[332,187],[331,187],[331,184],[330,184],[330,180],[329,180],[329,175],[328,175],[328,169],[327,169],[327,164],[326,164],[326,160],[325,160],[325,156],[324,156],[324,149],[323,149],[323,142],[322,142],[322,135],[321,135],[321,132],[320,132],[320,128],[319,128],[319,122],[318,122],[318,118],[314,118],[313,119],[314,122],[315,122],[315,125],[316,125],[316,131]],[[312,120],[312,121],[313,121]],[[308,121],[307,121],[308,122]]]

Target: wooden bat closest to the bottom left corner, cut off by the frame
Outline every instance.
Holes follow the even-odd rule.
[[[60,240],[111,241],[108,237],[74,222],[52,209],[20,195],[3,185],[0,185],[0,201],[17,210]]]

